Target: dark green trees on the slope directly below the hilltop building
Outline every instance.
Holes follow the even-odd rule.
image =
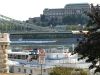
[[[72,15],[66,15],[63,16],[61,20],[57,17],[52,17],[52,18],[47,18],[45,15],[40,16],[40,21],[35,21],[33,23],[38,24],[40,26],[49,26],[49,25],[63,25],[63,24],[68,24],[68,25],[77,25],[77,24],[86,24],[88,21],[88,17],[83,13],[83,14],[72,14]]]

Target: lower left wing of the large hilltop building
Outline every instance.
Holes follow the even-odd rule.
[[[65,15],[65,9],[64,8],[44,9],[43,15],[45,15],[45,18],[49,21],[54,18],[57,23],[61,23],[62,18]]]

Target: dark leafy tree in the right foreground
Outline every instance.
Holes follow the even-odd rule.
[[[87,15],[90,20],[87,24],[88,33],[83,34],[83,39],[79,41],[75,48],[75,53],[81,55],[79,59],[87,58],[86,62],[91,62],[89,69],[96,68],[95,72],[100,72],[100,8],[91,4],[91,10]],[[97,64],[98,63],[98,64]]]

